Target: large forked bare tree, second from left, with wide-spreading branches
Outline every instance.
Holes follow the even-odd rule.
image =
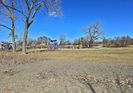
[[[5,0],[3,0],[5,1]],[[44,10],[49,16],[61,14],[61,0],[16,0],[15,7],[6,5],[8,8],[21,14],[20,18],[25,25],[22,53],[26,54],[26,45],[29,28],[33,24],[39,10]]]

